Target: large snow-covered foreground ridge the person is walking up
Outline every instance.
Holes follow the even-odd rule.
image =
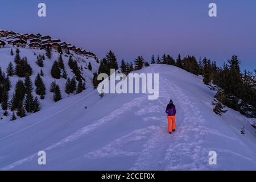
[[[256,169],[249,120],[232,109],[214,114],[214,93],[201,77],[170,65],[139,72],[159,73],[158,100],[146,94],[100,99],[89,88],[16,122],[0,122],[1,169]],[[177,109],[172,135],[164,113],[170,98]],[[38,165],[40,150],[46,151],[46,165]],[[212,150],[217,165],[210,166]]]

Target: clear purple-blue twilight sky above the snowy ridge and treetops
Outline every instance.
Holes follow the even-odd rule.
[[[47,6],[38,17],[38,3]],[[208,16],[210,2],[217,17]],[[207,56],[220,65],[233,54],[256,69],[256,1],[252,0],[8,0],[0,29],[40,32],[118,60],[152,54]]]

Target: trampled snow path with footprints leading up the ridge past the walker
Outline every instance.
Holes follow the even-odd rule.
[[[177,117],[177,130],[172,135],[167,132],[167,119],[160,122],[160,126],[144,144],[144,150],[139,155],[132,170],[172,170],[172,169],[200,169],[200,164],[207,164],[207,153],[202,150],[204,133],[200,129],[204,126],[204,118],[200,115],[196,104],[170,80],[160,77],[161,107],[166,107],[166,101],[173,99],[180,113]],[[196,139],[196,142],[193,140]],[[205,168],[205,165],[203,166]]]

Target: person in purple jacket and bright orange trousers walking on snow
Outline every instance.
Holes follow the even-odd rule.
[[[166,113],[168,114],[168,131],[171,134],[172,131],[175,131],[175,114],[176,114],[176,109],[174,102],[170,100],[169,104],[166,107]]]

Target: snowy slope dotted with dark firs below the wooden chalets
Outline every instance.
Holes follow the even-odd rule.
[[[10,55],[11,49],[13,49],[13,52],[14,52],[13,56]],[[6,46],[5,48],[0,48],[0,67],[2,68],[3,72],[6,72],[6,68],[10,62],[13,63],[15,67],[15,63],[14,63],[15,51],[16,51],[16,48],[13,48],[12,46]],[[38,73],[40,73],[41,69],[44,73],[44,76],[42,77],[42,79],[44,81],[44,84],[46,85],[46,98],[44,98],[44,100],[40,100],[42,109],[55,103],[53,101],[53,94],[49,92],[49,88],[52,81],[56,81],[56,84],[60,86],[60,90],[63,98],[72,97],[72,94],[68,95],[67,93],[65,93],[65,82],[67,80],[65,80],[64,78],[55,79],[55,78],[52,78],[51,76],[52,64],[55,60],[59,59],[59,53],[52,50],[51,59],[47,59],[47,56],[45,56],[46,60],[44,60],[44,67],[41,68],[36,64],[36,60],[37,60],[36,57],[39,55],[45,55],[46,51],[30,49],[30,48],[19,48],[19,51],[20,51],[19,53],[20,57],[27,57],[28,64],[31,65],[31,68],[33,70],[33,73],[31,75],[31,80],[33,82],[33,85],[34,85],[35,77],[36,75],[38,75]],[[81,67],[83,68],[82,70],[80,69],[80,71],[82,73],[82,76],[85,78],[86,87],[87,88],[92,87],[93,73],[97,72],[99,64],[92,57],[80,56],[73,51],[71,51],[71,54],[72,55],[67,55],[66,53],[63,53],[62,55],[63,62],[65,65],[65,70],[67,71],[68,77],[73,78],[73,76],[75,76],[75,74],[72,72],[72,69],[70,69],[68,65],[69,56],[72,56],[72,59],[77,61],[79,68]],[[88,68],[89,62],[92,64],[92,71],[89,71],[88,69],[86,69]],[[19,78],[18,76],[10,77],[11,90],[9,92],[9,99],[11,99],[11,97],[13,96],[16,81],[18,81],[19,79],[24,80],[24,78]],[[36,96],[35,85],[34,85],[34,92],[32,94]],[[2,109],[0,109],[0,113],[1,114],[3,113]],[[1,116],[1,117],[3,118],[3,121],[10,121],[10,115],[11,114],[9,114],[8,117],[4,117],[4,116]]]

